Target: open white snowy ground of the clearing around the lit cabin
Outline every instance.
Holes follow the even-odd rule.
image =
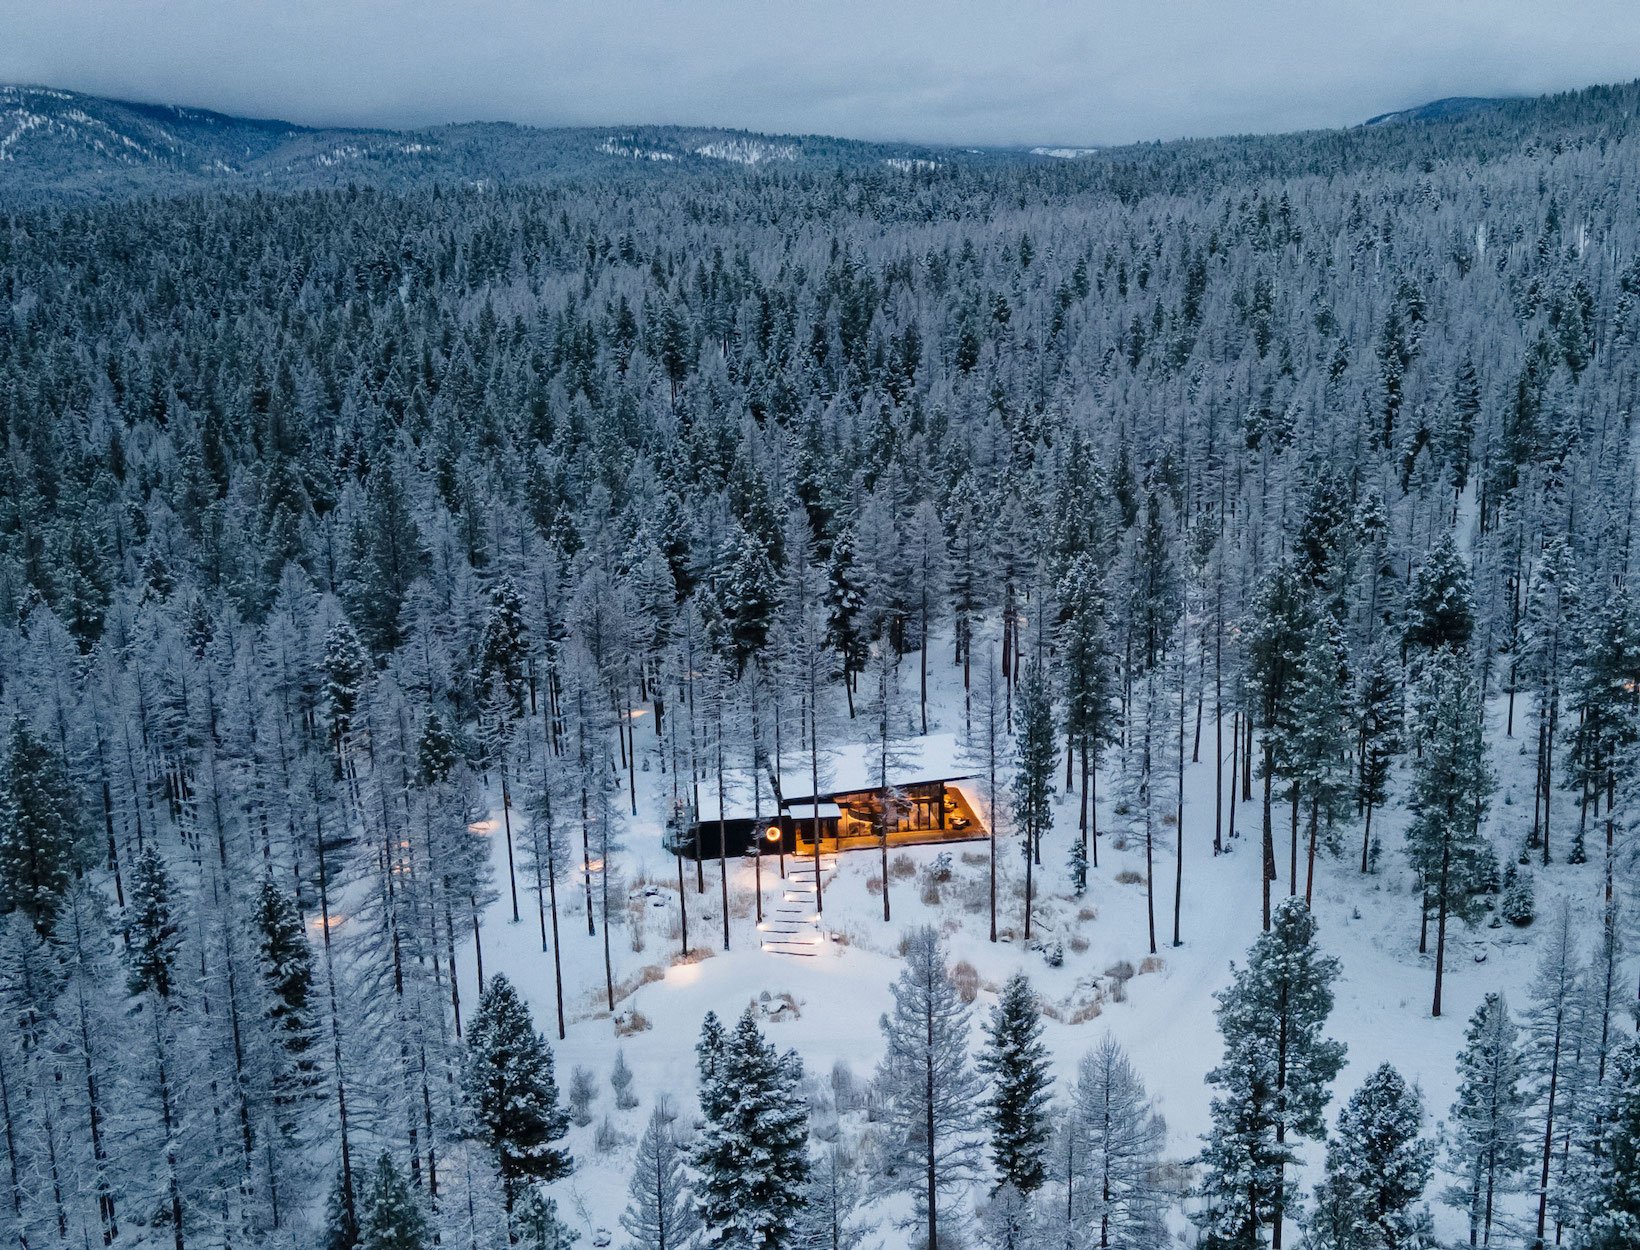
[[[948,656],[950,648],[936,645],[933,656],[941,653]],[[930,730],[961,735],[959,676],[936,661],[932,677],[935,705]],[[1519,851],[1530,823],[1532,756],[1522,758],[1520,707],[1514,740],[1502,735],[1502,707],[1497,705],[1492,712],[1492,763],[1499,786],[1489,828],[1507,863]],[[946,737],[945,741],[951,738]],[[1228,753],[1228,715],[1223,741]],[[1048,945],[1063,942],[1064,963],[1059,968],[1048,966],[1041,950],[1027,948],[1017,937],[1023,920],[1023,865],[1012,843],[999,851],[1005,883],[999,904],[1000,940],[994,945],[987,940],[984,842],[945,848],[953,879],[938,887],[936,902],[923,899],[923,884],[941,848],[894,850],[892,860],[902,863],[899,871],[904,873],[909,866],[910,874],[892,874],[892,924],[882,922],[877,855],[853,851],[840,856],[835,873],[828,873],[825,883],[822,927],[828,937],[813,958],[761,948],[751,861],[730,865],[731,948],[720,950],[717,861],[705,865],[704,894],[695,892],[694,865],[689,865],[689,933],[690,947],[699,955],[687,963],[677,961],[677,866],[661,848],[661,819],[671,782],[661,773],[653,730],[648,738],[640,730],[638,746],[638,815],[626,822],[618,856],[626,894],[620,924],[612,933],[617,992],[623,994],[615,1015],[607,1010],[604,997],[602,935],[587,935],[585,914],[579,906],[579,873],[567,887],[559,889],[569,1015],[567,1038],[563,1043],[556,1040],[551,956],[541,951],[535,901],[526,892],[528,883],[522,873],[518,887],[523,920],[517,925],[510,920],[507,856],[500,832],[494,835],[500,901],[484,924],[485,971],[505,973],[535,1009],[538,1027],[553,1042],[561,1088],[567,1088],[577,1066],[585,1066],[597,1076],[599,1101],[592,1109],[592,1124],[572,1129],[571,1135],[574,1176],[554,1188],[561,1209],[584,1232],[584,1243],[600,1243],[600,1230],[608,1232],[615,1245],[623,1242],[618,1219],[626,1202],[633,1145],[656,1097],[667,1096],[692,1111],[694,1043],[700,1019],[708,1009],[722,1017],[735,1017],[748,1002],[759,1001],[766,1010],[768,1035],[781,1047],[797,1050],[812,1079],[828,1084],[833,1065],[846,1063],[864,1081],[882,1052],[877,1019],[891,1002],[889,986],[899,969],[900,935],[922,924],[938,925],[946,933],[951,960],[966,961],[977,971],[981,989],[974,1004],[976,1043],[984,1012],[995,1001],[994,989],[1012,971],[1025,969],[1050,1012],[1046,1040],[1055,1053],[1059,1089],[1066,1088],[1081,1055],[1109,1032],[1127,1047],[1166,1115],[1169,1156],[1182,1161],[1196,1153],[1199,1137],[1209,1124],[1210,1091],[1204,1076],[1220,1055],[1214,994],[1228,983],[1232,960],[1245,956],[1260,930],[1256,797],[1240,804],[1238,837],[1228,843],[1228,853],[1215,856],[1212,850],[1210,704],[1202,730],[1200,763],[1186,766],[1182,943],[1171,945],[1176,863],[1173,828],[1161,830],[1163,838],[1155,850],[1158,955],[1150,956],[1143,842],[1120,832],[1120,819],[1105,804],[1105,796],[1115,787],[1112,778],[1102,776],[1099,868],[1089,873],[1087,894],[1082,899],[1069,896],[1066,856],[1076,825],[1076,801],[1071,794],[1061,797],[1058,828],[1043,846],[1043,868],[1036,874],[1036,933]],[[961,771],[964,766],[954,761],[953,773]],[[1227,763],[1227,786],[1228,776]],[[1255,796],[1256,791],[1255,786]],[[1560,828],[1569,833],[1576,814],[1569,801],[1561,802],[1556,819]],[[1284,815],[1284,810],[1278,810],[1278,863],[1282,869],[1278,887],[1282,892],[1287,887]],[[1228,819],[1228,804],[1225,817]],[[515,828],[522,827],[522,815],[515,814],[513,820]],[[1540,871],[1540,919],[1530,928],[1492,928],[1483,922],[1466,930],[1455,922],[1448,938],[1445,1014],[1432,1019],[1433,960],[1417,953],[1419,904],[1401,853],[1404,820],[1394,804],[1387,814],[1374,819],[1374,828],[1381,827],[1384,843],[1376,876],[1363,878],[1358,871],[1360,830],[1355,827],[1343,832],[1343,855],[1323,856],[1317,866],[1315,910],[1322,942],[1343,968],[1330,1033],[1348,1045],[1348,1065],[1333,1088],[1332,1107],[1337,1111],[1366,1073],[1387,1060],[1422,1089],[1433,1132],[1453,1101],[1453,1060],[1469,1014],[1494,989],[1504,989],[1517,1009],[1525,1004],[1525,988],[1537,958],[1535,943],[1547,928],[1543,917],[1558,906],[1561,896],[1573,901],[1584,942],[1592,938],[1599,868],[1592,863],[1579,868],[1555,865]],[[1566,845],[1569,837],[1561,850]],[[766,858],[761,869],[764,906],[772,907],[782,896],[779,863]],[[787,871],[812,873],[812,868],[807,863],[800,868],[789,863]],[[646,896],[646,887],[654,892]],[[471,997],[471,955],[469,945],[459,969],[464,1001]],[[1118,978],[1112,978],[1109,969],[1122,963],[1130,965],[1133,974],[1123,991],[1117,992]],[[795,1004],[795,1010],[782,1009],[786,996]],[[635,1024],[636,1032],[626,1032]],[[635,1089],[641,1101],[631,1111],[617,1111],[613,1106],[608,1071],[617,1050],[625,1052],[636,1073]],[[613,1150],[600,1152],[594,1138],[605,1117],[612,1119],[622,1142]],[[863,1114],[848,1117],[845,1132],[858,1130],[863,1122]],[[1312,1168],[1317,1161],[1319,1152],[1312,1152]],[[1312,1181],[1314,1171],[1304,1179],[1305,1196]],[[1428,1196],[1440,1232],[1456,1237],[1463,1227],[1458,1214],[1433,1201],[1445,1183],[1437,1175]],[[881,1243],[886,1250],[909,1245],[910,1234],[895,1230],[892,1222],[899,1214],[904,1214],[904,1207],[892,1199],[872,1209],[871,1217],[881,1217],[876,1234],[879,1240],[868,1240],[868,1245]],[[1194,1240],[1194,1235],[1187,1237]]]

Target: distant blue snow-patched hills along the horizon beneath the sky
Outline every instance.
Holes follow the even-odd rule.
[[[1132,203],[1304,174],[1491,159],[1540,141],[1607,141],[1627,133],[1637,115],[1640,84],[1620,84],[1538,98],[1451,97],[1345,130],[1025,149],[702,126],[541,130],[487,121],[421,130],[313,128],[0,85],[0,203],[202,190],[720,179],[725,171],[850,171],[856,182],[986,180],[1012,177],[1020,167],[1035,171],[1035,185],[1048,197],[1102,192]],[[881,197],[868,192],[868,198]],[[928,210],[920,205],[910,212]]]

